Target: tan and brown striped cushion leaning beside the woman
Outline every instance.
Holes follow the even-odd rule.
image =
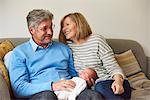
[[[115,58],[128,78],[132,88],[143,88],[145,82],[150,83],[150,80],[148,80],[146,75],[142,72],[140,65],[131,50],[122,54],[116,54]]]

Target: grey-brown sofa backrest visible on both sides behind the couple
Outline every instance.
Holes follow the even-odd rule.
[[[14,46],[17,46],[27,40],[29,40],[29,38],[0,38],[0,41],[3,40],[10,40]],[[54,39],[57,40],[57,39]],[[127,39],[106,39],[108,44],[112,47],[112,49],[114,50],[114,53],[116,54],[120,54],[123,53],[127,50],[132,50],[134,55],[136,56],[142,71],[147,74],[147,60],[146,60],[146,56],[144,54],[144,50],[141,47],[141,45],[139,43],[137,43],[136,41],[133,40],[127,40]]]

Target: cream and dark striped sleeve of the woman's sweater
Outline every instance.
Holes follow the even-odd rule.
[[[122,69],[114,57],[113,50],[107,44],[106,40],[101,36],[99,36],[98,54],[102,61],[103,67],[107,70],[112,78],[115,74],[120,74],[122,75],[123,79],[125,78]]]

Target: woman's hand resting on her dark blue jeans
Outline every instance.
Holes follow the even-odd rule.
[[[111,88],[112,88],[114,94],[124,93],[122,76],[117,74],[117,75],[114,75],[113,78],[114,78],[114,82],[112,83]]]

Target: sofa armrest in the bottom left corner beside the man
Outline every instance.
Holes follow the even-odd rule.
[[[0,73],[0,100],[10,100],[9,90],[1,73]]]

